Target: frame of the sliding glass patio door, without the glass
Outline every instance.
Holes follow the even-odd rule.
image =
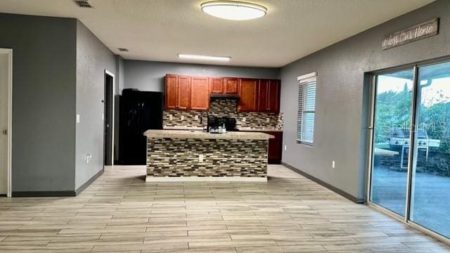
[[[440,235],[439,233],[436,233],[435,231],[432,231],[429,228],[425,228],[424,226],[421,226],[420,224],[411,221],[410,219],[410,208],[411,208],[411,181],[412,181],[412,166],[413,166],[413,159],[414,159],[414,145],[413,142],[416,134],[416,125],[417,125],[417,119],[416,119],[416,110],[418,108],[418,103],[420,101],[418,98],[418,70],[420,67],[425,67],[428,65],[435,65],[438,63],[444,63],[449,62],[450,56],[444,56],[439,57],[431,60],[423,60],[417,63],[411,63],[406,65],[400,65],[397,67],[390,67],[383,70],[376,70],[373,72],[369,72],[370,74],[370,99],[369,99],[369,106],[368,106],[368,164],[367,164],[367,176],[366,176],[366,204],[369,207],[372,207],[373,209],[376,209],[380,212],[383,212],[384,214],[387,214],[391,216],[394,219],[397,219],[398,221],[401,221],[402,223],[405,223],[408,226],[411,226],[413,228],[416,228],[418,231],[425,233],[426,235],[429,235],[432,238],[435,238],[436,240],[439,240],[441,242],[444,242],[446,245],[450,245],[450,238],[446,238],[444,235]],[[409,158],[408,158],[408,170],[406,173],[406,205],[405,205],[405,216],[401,216],[395,212],[392,212],[390,209],[387,209],[385,207],[382,207],[375,202],[371,202],[371,183],[372,183],[372,168],[373,168],[373,141],[374,141],[374,124],[375,124],[375,96],[376,96],[376,85],[377,85],[377,79],[376,76],[379,74],[387,74],[391,72],[397,72],[401,70],[413,70],[413,89],[411,94],[411,124],[410,124],[410,134],[409,134]]]

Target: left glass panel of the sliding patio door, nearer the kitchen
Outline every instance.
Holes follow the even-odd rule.
[[[405,216],[413,70],[379,74],[375,85],[370,201]]]

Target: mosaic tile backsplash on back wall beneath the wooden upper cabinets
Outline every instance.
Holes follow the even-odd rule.
[[[237,100],[231,98],[211,98],[210,115],[217,117],[234,117],[238,128],[283,129],[282,113],[238,112]],[[194,110],[165,110],[162,116],[164,126],[203,127],[207,117],[203,114],[200,124],[200,112]]]

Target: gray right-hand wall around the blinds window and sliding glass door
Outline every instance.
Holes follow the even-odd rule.
[[[381,50],[390,34],[440,18],[439,35]],[[283,162],[340,190],[364,198],[367,138],[367,85],[364,72],[450,54],[450,1],[438,0],[281,68],[284,113]],[[295,142],[297,76],[317,71],[314,147]],[[331,168],[332,160],[336,169]]]

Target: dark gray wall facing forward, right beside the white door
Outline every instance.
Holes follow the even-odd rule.
[[[13,48],[13,192],[75,188],[74,19],[0,13]]]

